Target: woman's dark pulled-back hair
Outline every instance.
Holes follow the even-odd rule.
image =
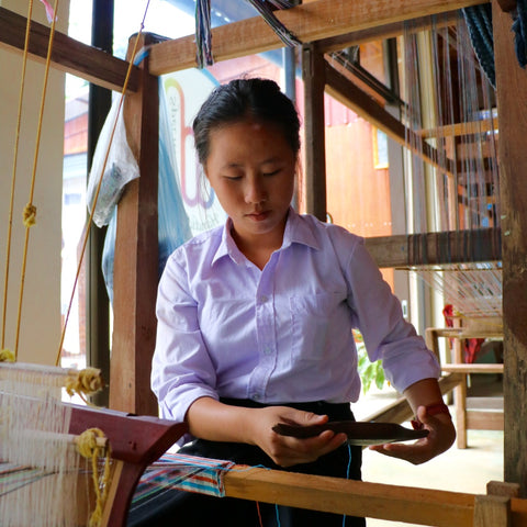
[[[214,89],[194,119],[194,145],[202,165],[210,154],[210,132],[247,117],[273,123],[283,132],[296,155],[300,150],[300,120],[292,101],[270,79],[235,79]]]

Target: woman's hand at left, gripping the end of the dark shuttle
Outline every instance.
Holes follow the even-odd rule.
[[[315,461],[321,456],[340,447],[347,439],[346,434],[325,430],[318,436],[295,438],[273,431],[278,423],[296,426],[323,425],[327,415],[317,415],[289,406],[267,406],[251,408],[246,414],[248,434],[246,441],[260,447],[280,467]]]

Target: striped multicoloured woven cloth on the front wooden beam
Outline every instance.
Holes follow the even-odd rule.
[[[150,464],[141,478],[132,508],[144,505],[167,490],[222,497],[225,495],[223,474],[233,466],[232,461],[220,459],[166,453]]]

